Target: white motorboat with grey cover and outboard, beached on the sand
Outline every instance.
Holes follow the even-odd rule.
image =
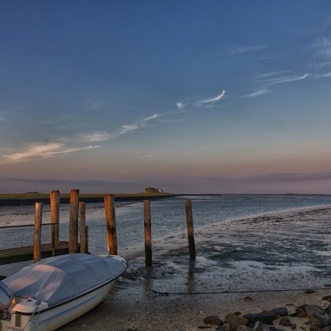
[[[98,305],[126,268],[121,257],[90,254],[29,265],[0,281],[0,330],[55,330]]]

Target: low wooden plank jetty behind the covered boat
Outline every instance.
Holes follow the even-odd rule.
[[[68,242],[59,241],[55,244],[55,255],[68,254]],[[52,247],[50,243],[41,244],[41,258],[51,257]],[[23,261],[33,260],[33,245],[17,248],[8,248],[6,250],[0,250],[0,265],[17,263]]]

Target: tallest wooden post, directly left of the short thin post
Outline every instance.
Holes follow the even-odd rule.
[[[69,253],[78,252],[79,190],[70,192]]]

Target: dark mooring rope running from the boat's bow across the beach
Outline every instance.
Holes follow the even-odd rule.
[[[128,265],[128,262],[126,263]],[[153,290],[150,285],[146,284],[140,277],[137,272],[135,272],[130,265],[128,265],[128,269],[137,277],[137,279],[146,287],[148,290],[153,292],[154,294],[159,295],[199,295],[199,294],[245,294],[245,293],[268,293],[268,292],[299,292],[299,291],[317,291],[317,290],[327,290],[328,288],[286,288],[281,290],[242,290],[242,291],[215,291],[215,292],[160,292],[157,290]]]

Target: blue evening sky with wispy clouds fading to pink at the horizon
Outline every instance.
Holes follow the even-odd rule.
[[[0,192],[331,194],[329,1],[0,2]]]

